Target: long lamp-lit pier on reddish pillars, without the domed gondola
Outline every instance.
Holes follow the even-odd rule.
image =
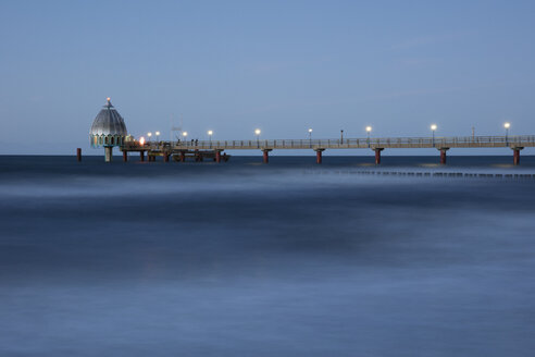
[[[129,152],[139,152],[140,160],[147,155],[149,161],[163,157],[163,161],[184,162],[213,160],[227,161],[229,150],[260,150],[264,163],[269,162],[273,150],[311,150],[315,152],[318,163],[322,163],[323,152],[335,149],[368,149],[375,155],[375,163],[381,163],[381,153],[386,149],[435,148],[439,152],[439,162],[446,164],[447,151],[455,148],[509,148],[513,153],[513,163],[520,164],[520,151],[525,147],[535,147],[535,135],[520,136],[455,136],[455,137],[386,137],[386,138],[339,138],[339,139],[252,139],[252,140],[177,140],[149,141],[140,144],[132,140],[121,145],[123,159]]]

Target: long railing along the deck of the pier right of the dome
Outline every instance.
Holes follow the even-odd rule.
[[[338,139],[251,139],[251,140],[178,140],[149,141],[140,146],[126,143],[126,150],[273,150],[273,149],[375,149],[375,148],[522,148],[534,147],[535,135],[459,136],[459,137],[386,137]]]

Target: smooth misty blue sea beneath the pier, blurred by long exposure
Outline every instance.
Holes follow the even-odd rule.
[[[0,356],[534,356],[535,157],[0,156]]]

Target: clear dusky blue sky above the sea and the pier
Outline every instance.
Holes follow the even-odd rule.
[[[534,19],[535,1],[1,0],[0,155],[91,152],[107,97],[136,137],[535,134]]]

